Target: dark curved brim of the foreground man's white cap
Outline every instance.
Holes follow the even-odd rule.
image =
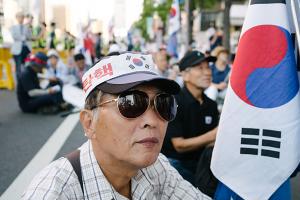
[[[136,80],[136,82],[132,82],[132,80]],[[100,84],[98,88],[105,93],[118,94],[140,84],[150,84],[170,94],[178,94],[180,91],[180,86],[175,81],[150,73],[135,73],[117,77]]]

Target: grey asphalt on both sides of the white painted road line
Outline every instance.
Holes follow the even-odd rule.
[[[66,117],[24,114],[19,110],[15,93],[7,90],[0,90],[0,111],[0,195],[3,195]],[[76,123],[53,159],[72,151],[84,141],[81,126]],[[52,150],[50,147],[49,151]]]

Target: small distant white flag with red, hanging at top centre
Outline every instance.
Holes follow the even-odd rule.
[[[180,29],[179,1],[173,0],[169,13],[168,35],[171,36]]]

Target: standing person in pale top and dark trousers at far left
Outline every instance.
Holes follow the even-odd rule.
[[[23,70],[22,68],[25,63],[25,58],[31,52],[32,32],[23,24],[24,17],[23,12],[18,12],[16,14],[18,24],[12,26],[10,30],[14,40],[11,46],[11,53],[15,61],[17,78],[20,77]]]

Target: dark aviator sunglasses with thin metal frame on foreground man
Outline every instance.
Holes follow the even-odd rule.
[[[172,121],[177,113],[177,103],[173,95],[159,93],[153,100],[150,100],[147,93],[139,90],[123,92],[116,99],[102,102],[94,108],[113,101],[117,102],[121,115],[126,118],[137,118],[141,116],[144,112],[146,112],[150,104],[152,104],[152,101],[152,105],[154,105],[155,111],[158,115],[168,122]]]

